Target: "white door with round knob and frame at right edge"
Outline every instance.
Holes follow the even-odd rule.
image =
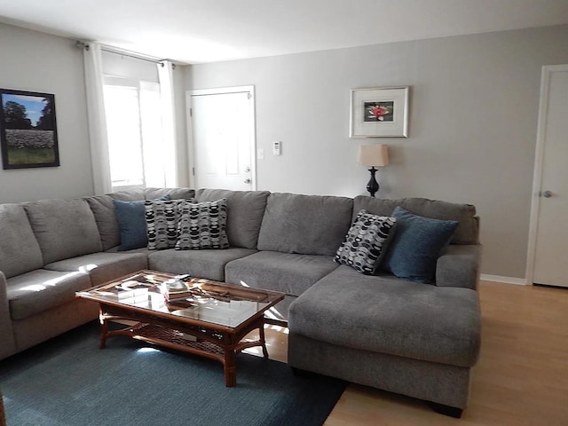
[[[568,287],[568,66],[543,68],[537,145],[533,283]]]

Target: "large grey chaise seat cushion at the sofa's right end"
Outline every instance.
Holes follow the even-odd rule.
[[[290,305],[290,333],[353,349],[472,367],[480,346],[477,292],[341,265]]]

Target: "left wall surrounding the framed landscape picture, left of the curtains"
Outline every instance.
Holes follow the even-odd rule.
[[[0,170],[0,203],[93,193],[83,51],[57,36],[0,24],[0,88],[55,95],[59,167]]]

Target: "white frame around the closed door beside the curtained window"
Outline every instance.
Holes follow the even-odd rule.
[[[228,93],[242,93],[248,92],[250,94],[250,137],[252,138],[250,144],[250,177],[252,179],[251,189],[256,191],[256,98],[255,98],[255,86],[232,86],[232,87],[220,87],[216,89],[196,89],[193,91],[185,91],[185,117],[187,122],[187,163],[189,164],[189,184],[190,187],[198,189],[195,187],[195,143],[193,141],[193,116],[192,116],[192,97],[193,96],[203,96],[203,95],[222,95]]]

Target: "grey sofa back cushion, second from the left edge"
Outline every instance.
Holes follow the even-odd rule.
[[[87,201],[43,200],[24,207],[44,264],[102,250],[99,228]]]

